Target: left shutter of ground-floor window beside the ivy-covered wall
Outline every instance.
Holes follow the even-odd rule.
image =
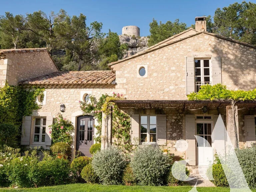
[[[24,116],[21,127],[21,145],[30,144],[31,116]]]

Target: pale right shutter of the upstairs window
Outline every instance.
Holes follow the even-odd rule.
[[[221,58],[212,57],[212,85],[222,83],[221,81]]]

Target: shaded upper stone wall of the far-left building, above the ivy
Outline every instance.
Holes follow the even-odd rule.
[[[0,86],[4,86],[5,80],[10,85],[17,85],[20,81],[56,71],[58,69],[46,51],[7,53],[6,58],[0,60]]]

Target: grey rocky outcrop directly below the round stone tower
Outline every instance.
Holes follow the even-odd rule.
[[[125,51],[124,57],[130,57],[143,51],[144,49],[148,48],[148,38],[147,37],[135,37],[135,36],[128,36],[128,35],[120,35],[119,40],[121,44],[126,43],[128,45],[128,50]]]

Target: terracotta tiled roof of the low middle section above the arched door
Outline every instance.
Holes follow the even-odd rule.
[[[21,81],[22,85],[113,85],[115,84],[114,71],[58,71],[48,75]]]

